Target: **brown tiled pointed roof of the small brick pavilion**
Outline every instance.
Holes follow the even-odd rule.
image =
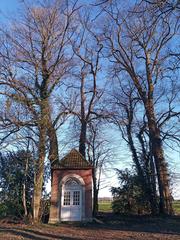
[[[53,168],[92,168],[91,164],[78,152],[72,149],[61,161]]]

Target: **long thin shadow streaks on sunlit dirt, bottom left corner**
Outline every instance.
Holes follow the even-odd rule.
[[[50,239],[59,239],[59,240],[79,240],[79,238],[75,237],[66,237],[61,236],[60,234],[49,234],[49,233],[42,233],[37,230],[31,229],[20,229],[20,228],[11,228],[11,227],[1,227],[0,226],[0,233],[3,234],[12,234],[14,236],[23,237],[23,239],[34,239],[34,240],[50,240]]]

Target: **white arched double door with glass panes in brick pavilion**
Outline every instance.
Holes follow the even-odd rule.
[[[82,185],[75,178],[69,178],[62,186],[61,221],[81,221]]]

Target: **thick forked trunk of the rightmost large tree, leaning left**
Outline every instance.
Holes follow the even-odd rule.
[[[134,84],[141,96],[146,111],[146,117],[148,121],[149,139],[151,143],[152,156],[156,166],[158,187],[159,187],[159,212],[160,214],[172,214],[172,197],[169,188],[169,177],[167,164],[164,158],[164,152],[162,147],[162,140],[160,136],[160,129],[158,128],[155,109],[154,109],[154,85],[152,81],[151,60],[149,52],[145,52],[146,55],[146,78],[148,83],[147,92],[143,91],[134,71],[131,72]]]

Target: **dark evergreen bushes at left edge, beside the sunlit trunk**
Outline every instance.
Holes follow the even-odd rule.
[[[1,217],[32,215],[34,169],[30,152],[18,151],[0,155]]]

